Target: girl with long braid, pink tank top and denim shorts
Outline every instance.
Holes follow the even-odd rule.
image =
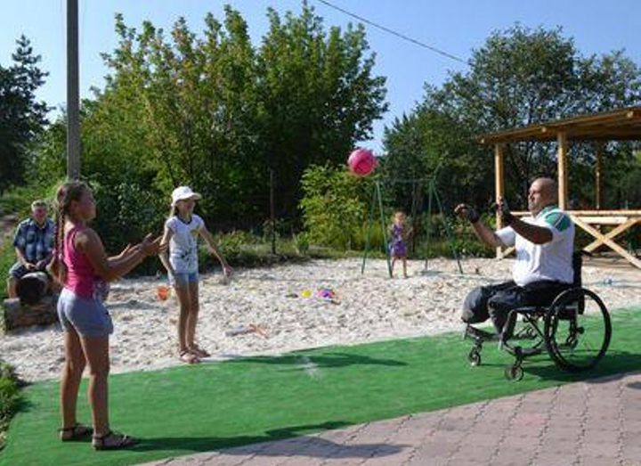
[[[159,238],[148,235],[141,243],[108,257],[102,241],[87,226],[96,215],[93,192],[81,182],[62,184],[56,194],[55,251],[50,267],[63,290],[58,316],[64,330],[65,363],[61,374],[62,441],[80,440],[93,434],[93,448],[107,450],[134,446],[133,437],[110,429],[108,375],[110,315],[102,304],[103,284],[127,274],[144,258],[157,255]],[[77,423],[76,402],[85,364],[89,364],[87,397],[93,429]]]

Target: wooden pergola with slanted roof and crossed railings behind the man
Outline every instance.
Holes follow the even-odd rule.
[[[496,198],[504,195],[503,159],[506,144],[521,142],[552,142],[557,143],[558,163],[558,199],[559,207],[572,217],[575,225],[588,232],[592,241],[584,250],[591,252],[604,245],[613,249],[632,265],[641,268],[641,260],[634,257],[626,249],[617,244],[614,239],[634,225],[641,223],[641,209],[637,210],[602,210],[602,156],[604,143],[608,141],[641,140],[641,107],[606,111],[581,115],[570,119],[559,119],[548,123],[529,125],[527,127],[508,129],[479,137],[482,144],[494,145],[494,164],[496,181]],[[595,209],[567,210],[568,208],[568,151],[573,141],[594,142],[596,151],[595,164]],[[515,212],[516,215],[528,215],[528,212]],[[501,226],[497,217],[497,225]],[[593,225],[610,225],[613,229],[601,233]],[[511,252],[497,249],[497,257],[501,258]]]

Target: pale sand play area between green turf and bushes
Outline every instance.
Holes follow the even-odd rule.
[[[227,284],[220,274],[203,274],[197,339],[215,361],[462,330],[459,314],[467,291],[507,280],[512,260],[467,259],[463,267],[460,275],[456,262],[437,259],[425,274],[422,261],[410,261],[410,278],[389,279],[384,260],[369,260],[361,275],[361,260],[353,258],[240,269]],[[584,266],[583,282],[610,309],[641,306],[636,269]],[[113,284],[112,372],[183,364],[177,357],[177,303],[173,295],[158,299],[162,283],[139,278]],[[335,296],[319,298],[319,289]],[[260,331],[251,331],[252,324]],[[60,327],[0,335],[0,356],[26,380],[57,378]]]

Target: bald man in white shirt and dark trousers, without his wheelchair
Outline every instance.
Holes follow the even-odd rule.
[[[512,216],[507,203],[499,200],[496,207],[506,226],[498,231],[484,225],[474,208],[457,206],[455,212],[472,224],[480,241],[493,248],[516,249],[512,280],[472,290],[465,300],[463,322],[482,323],[491,318],[499,338],[505,341],[514,325],[514,319],[507,322],[510,311],[549,306],[562,291],[572,287],[574,225],[556,201],[556,182],[551,178],[535,179],[528,192],[531,217]]]

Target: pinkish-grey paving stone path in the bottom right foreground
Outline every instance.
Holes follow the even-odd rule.
[[[641,466],[641,372],[148,466]]]

